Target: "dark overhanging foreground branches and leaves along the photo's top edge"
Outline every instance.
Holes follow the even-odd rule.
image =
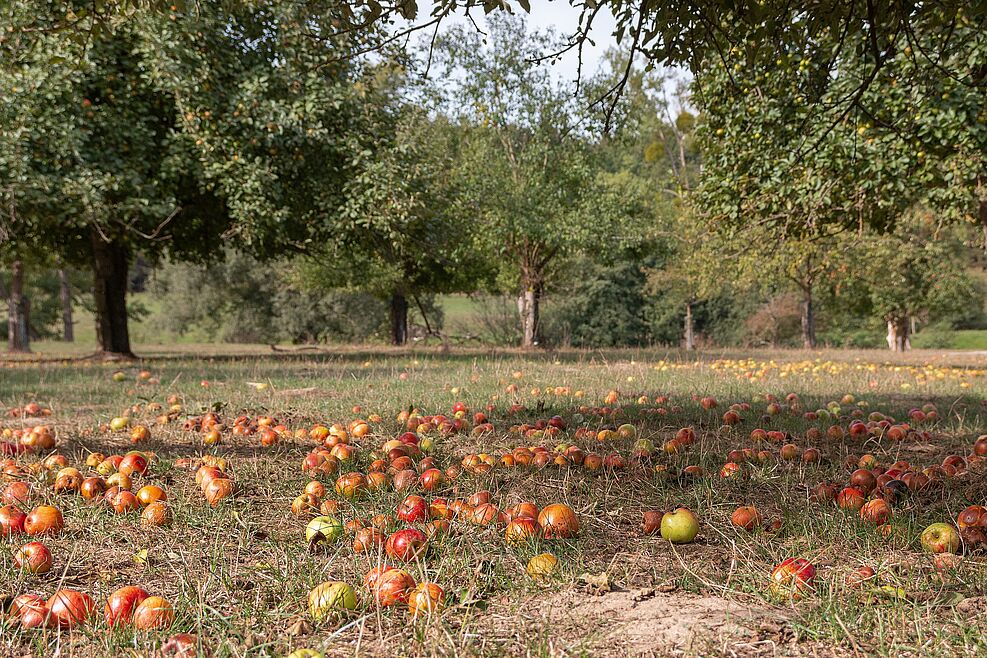
[[[184,11],[185,0],[102,0],[83,3],[59,1],[49,3],[57,18],[46,20],[34,12],[6,10],[6,24],[13,34],[60,31],[80,43],[97,31],[111,31],[126,26],[134,15],[144,11],[167,15]],[[332,15],[336,34],[364,33],[366,42],[360,52],[380,50],[395,41],[406,39],[416,31],[438,34],[444,21],[483,11],[486,14],[523,13],[531,10],[531,0],[351,0],[349,2],[306,3],[313,16]],[[529,51],[525,59],[551,58],[560,52],[575,51],[582,61],[583,49],[600,34],[601,15],[612,15],[613,36],[626,53],[629,72],[635,59],[652,65],[688,66],[693,73],[703,72],[710,60],[723,58],[735,47],[761,44],[772,52],[788,52],[797,45],[810,59],[829,62],[832,73],[840,62],[864,53],[869,67],[851,93],[834,97],[839,112],[857,111],[863,93],[874,82],[894,53],[915,35],[931,37],[915,58],[920,76],[934,81],[958,82],[977,88],[983,73],[973,77],[960,75],[964,62],[953,59],[961,35],[958,27],[984,31],[987,13],[966,0],[942,0],[935,3],[880,3],[874,0],[845,2],[820,0],[809,5],[787,0],[762,0],[737,3],[728,0],[687,2],[631,2],[630,0],[568,0],[579,11],[577,27],[557,47],[544,53]],[[594,31],[595,29],[595,31]],[[319,37],[320,33],[315,32]],[[941,38],[939,38],[941,36]],[[3,36],[0,36],[3,38]],[[958,66],[957,66],[958,65]],[[816,80],[825,89],[836,79],[828,75]],[[627,75],[618,79],[603,96],[614,101],[609,105],[608,121],[616,108],[616,99],[626,88]]]

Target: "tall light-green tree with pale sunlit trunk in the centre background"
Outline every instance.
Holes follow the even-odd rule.
[[[440,109],[461,131],[454,212],[514,292],[522,346],[539,343],[540,305],[553,267],[582,250],[609,249],[635,206],[596,167],[573,89],[526,53],[550,37],[506,17],[486,40],[464,28],[439,42]]]

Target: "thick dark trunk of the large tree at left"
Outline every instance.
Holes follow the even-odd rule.
[[[96,343],[104,357],[133,358],[127,326],[127,269],[130,254],[119,242],[106,242],[96,232],[93,246],[93,297]]]

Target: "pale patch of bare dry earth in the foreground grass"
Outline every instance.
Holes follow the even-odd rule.
[[[714,596],[653,589],[601,596],[569,590],[532,601],[535,623],[594,656],[757,653],[772,611]],[[746,650],[744,649],[746,647]]]

